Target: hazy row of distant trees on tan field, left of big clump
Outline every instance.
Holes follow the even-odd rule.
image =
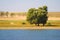
[[[4,12],[4,11],[0,11],[0,17],[15,17],[15,16],[26,16],[27,12],[17,12],[17,13],[14,13],[14,12]]]

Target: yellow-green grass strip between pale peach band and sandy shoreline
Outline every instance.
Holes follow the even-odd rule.
[[[60,20],[48,20],[45,26],[60,27]],[[26,20],[0,20],[0,27],[35,27],[35,25],[29,24]]]

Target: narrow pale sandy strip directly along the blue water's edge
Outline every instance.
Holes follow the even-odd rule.
[[[60,29],[60,27],[0,27],[0,30]]]

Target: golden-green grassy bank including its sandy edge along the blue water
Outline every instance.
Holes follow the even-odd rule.
[[[23,24],[25,23],[25,24]],[[60,29],[60,20],[48,20],[45,26],[29,24],[26,20],[0,20],[0,30],[16,29]]]

